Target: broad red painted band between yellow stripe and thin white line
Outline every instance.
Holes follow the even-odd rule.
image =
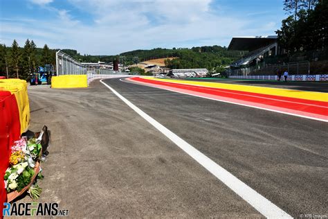
[[[194,85],[182,85],[172,82],[163,82],[158,80],[147,80],[145,78],[131,78],[138,82],[145,82],[152,85],[167,86],[169,88],[183,89],[185,91],[196,91],[200,94],[208,94],[211,96],[220,96],[223,98],[229,98],[231,100],[242,100],[248,103],[248,105],[261,104],[271,107],[277,107],[279,109],[291,109],[297,112],[305,112],[311,115],[318,114],[322,116],[328,116],[328,104],[323,101],[317,100],[304,100],[300,98],[289,98],[282,96],[273,96],[266,94],[256,94],[245,91],[235,91],[228,89],[217,89],[212,87],[201,87]],[[277,109],[275,109],[277,110]],[[295,113],[295,112],[294,112]],[[321,117],[321,116],[320,116]],[[327,119],[327,118],[325,118]]]

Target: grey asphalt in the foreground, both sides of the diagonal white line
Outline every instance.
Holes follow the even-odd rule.
[[[291,216],[327,215],[327,123],[104,82]],[[71,217],[261,217],[100,82],[28,92],[30,129],[53,135],[39,202]]]

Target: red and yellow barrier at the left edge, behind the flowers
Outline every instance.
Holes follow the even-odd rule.
[[[30,123],[27,83],[19,79],[0,79],[0,177],[9,165],[11,146]],[[7,192],[0,179],[0,203],[6,202]],[[0,204],[2,213],[3,204]],[[0,216],[0,218],[2,215]]]

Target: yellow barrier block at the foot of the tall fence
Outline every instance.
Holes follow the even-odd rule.
[[[79,87],[88,87],[88,78],[86,75],[53,76],[51,78],[51,88]]]

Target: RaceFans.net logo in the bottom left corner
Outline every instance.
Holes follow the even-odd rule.
[[[69,216],[69,210],[59,209],[56,202],[3,203],[3,216]]]

